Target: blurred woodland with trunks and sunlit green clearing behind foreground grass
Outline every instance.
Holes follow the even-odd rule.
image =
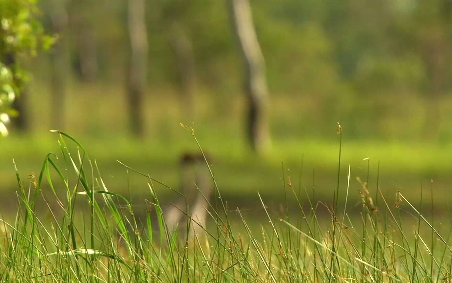
[[[0,140],[2,191],[17,187],[12,158],[31,174],[57,152],[50,129],[84,144],[110,190],[147,192],[116,159],[177,188],[180,154],[197,149],[183,123],[212,154],[226,198],[283,198],[283,175],[294,187],[315,175],[328,196],[339,121],[341,186],[347,165],[363,177],[370,157],[371,190],[381,160],[382,190],[418,192],[433,179],[447,192],[451,0],[250,0],[251,14],[247,4],[39,0],[56,41],[22,62],[31,75]]]

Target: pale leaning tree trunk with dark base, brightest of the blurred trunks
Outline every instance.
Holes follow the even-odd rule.
[[[245,91],[248,98],[247,134],[257,154],[270,144],[268,132],[268,89],[264,56],[254,29],[249,0],[228,0],[229,11],[245,63]]]

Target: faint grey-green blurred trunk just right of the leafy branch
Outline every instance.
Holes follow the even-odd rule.
[[[50,52],[52,126],[62,130],[65,126],[66,74],[67,74],[67,19],[66,1],[53,0],[50,10],[52,31],[59,35]]]

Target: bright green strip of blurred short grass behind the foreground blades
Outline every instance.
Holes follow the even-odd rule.
[[[179,126],[180,127],[180,126]],[[112,191],[124,193],[130,184],[134,196],[146,195],[142,179],[126,173],[126,168],[117,162],[125,163],[141,172],[148,173],[168,186],[179,189],[179,155],[189,150],[197,151],[193,138],[182,127],[181,137],[173,143],[152,139],[137,141],[133,139],[93,139],[81,137],[80,141],[90,153],[90,157],[105,172],[104,180]],[[278,202],[283,199],[282,177],[290,178],[295,188],[312,187],[313,181],[318,195],[323,201],[330,201],[337,182],[337,162],[339,159],[339,140],[278,140],[273,141],[273,150],[264,158],[255,158],[243,144],[234,141],[225,143],[203,135],[198,138],[203,148],[212,155],[212,170],[221,183],[223,194],[228,201],[255,200],[257,192],[264,198]],[[0,161],[1,194],[11,195],[17,190],[13,158],[21,177],[41,170],[42,162],[49,152],[59,153],[57,137],[49,132],[39,136],[11,136],[1,140],[2,159]],[[452,178],[450,161],[452,147],[438,147],[428,144],[376,143],[343,141],[340,188],[346,185],[347,167],[351,166],[350,198],[358,201],[356,193],[361,187],[355,177],[364,179],[369,170],[369,189],[375,192],[377,173],[379,186],[385,194],[394,197],[395,193],[410,192],[414,201],[419,201],[421,183],[433,188],[438,196],[447,195]],[[370,160],[363,158],[370,157]],[[370,164],[368,164],[368,162]],[[378,170],[378,163],[380,168]],[[282,170],[284,166],[284,171]],[[164,187],[157,188],[163,199],[171,197]],[[341,197],[340,201],[344,201]],[[448,197],[435,198],[435,202],[446,209]],[[240,202],[240,201],[237,201]],[[255,202],[255,201],[254,201]],[[2,203],[5,207],[5,203]]]

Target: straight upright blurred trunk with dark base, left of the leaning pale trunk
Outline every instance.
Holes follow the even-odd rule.
[[[147,33],[145,0],[128,0],[128,31],[130,37],[130,62],[127,74],[127,91],[132,133],[144,136],[143,95],[146,90]]]

